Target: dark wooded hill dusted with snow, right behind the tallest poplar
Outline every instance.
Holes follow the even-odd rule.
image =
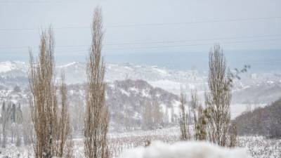
[[[67,89],[70,105],[74,109],[81,108],[85,100],[84,84],[71,84]],[[174,124],[178,118],[178,96],[143,80],[127,79],[107,84],[105,98],[110,108],[111,128],[115,130],[141,129],[145,105],[153,106],[153,103],[160,107],[163,126]]]

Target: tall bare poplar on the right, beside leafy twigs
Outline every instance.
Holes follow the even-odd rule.
[[[219,45],[209,53],[209,91],[205,94],[208,112],[209,139],[221,146],[227,145],[230,124],[231,81],[226,58]]]

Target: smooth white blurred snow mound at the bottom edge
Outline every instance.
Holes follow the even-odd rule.
[[[137,147],[123,152],[119,158],[249,158],[246,150],[228,149],[206,142],[152,142],[149,147]]]

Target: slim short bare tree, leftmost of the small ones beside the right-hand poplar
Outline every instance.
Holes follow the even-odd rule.
[[[190,139],[190,129],[188,124],[188,113],[186,110],[186,95],[181,90],[181,98],[180,98],[180,119],[179,124],[181,128],[181,140],[189,140]]]

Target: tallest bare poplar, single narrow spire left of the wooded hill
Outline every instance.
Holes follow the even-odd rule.
[[[87,63],[87,94],[84,121],[84,152],[88,158],[109,157],[107,131],[109,112],[105,105],[105,63],[101,55],[103,21],[100,8],[93,15],[92,44]]]

